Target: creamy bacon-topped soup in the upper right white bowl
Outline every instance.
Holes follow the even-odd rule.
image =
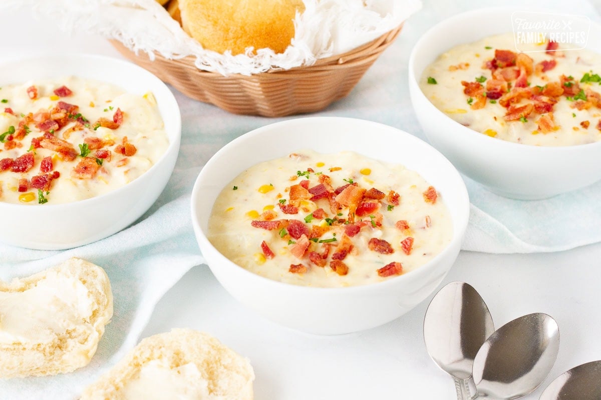
[[[558,43],[520,45],[502,34],[448,50],[420,86],[442,112],[475,131],[535,146],[601,140],[601,55]]]

